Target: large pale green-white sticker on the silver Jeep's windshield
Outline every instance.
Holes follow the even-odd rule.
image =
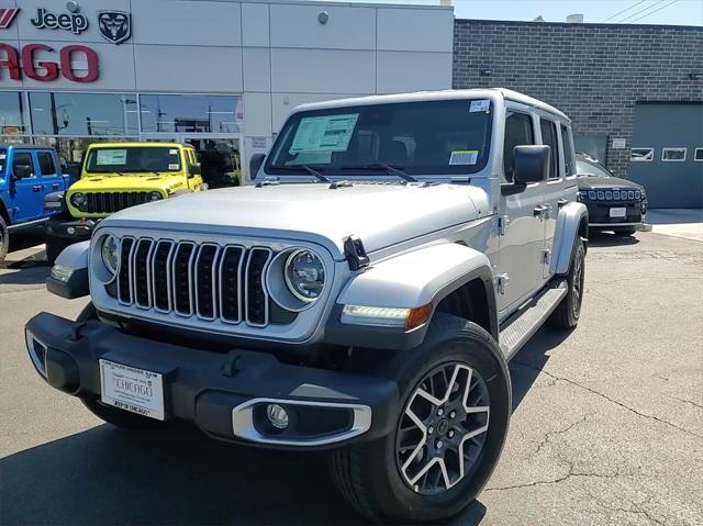
[[[300,120],[288,153],[346,152],[358,117],[358,113],[305,116]]]

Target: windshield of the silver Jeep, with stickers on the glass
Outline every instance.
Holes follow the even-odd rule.
[[[388,167],[408,175],[475,174],[489,154],[492,104],[480,100],[402,102],[293,114],[266,172],[353,177]],[[355,174],[355,170],[357,174]]]

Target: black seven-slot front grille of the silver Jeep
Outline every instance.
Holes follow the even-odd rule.
[[[123,237],[116,295],[123,305],[264,327],[274,251],[214,243]]]

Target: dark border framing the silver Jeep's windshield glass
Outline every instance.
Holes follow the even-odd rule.
[[[278,157],[281,154],[287,155],[290,153],[290,146],[293,143],[294,134],[298,132],[298,126],[302,119],[304,117],[316,117],[316,116],[332,116],[332,115],[346,115],[353,113],[359,113],[359,119],[361,119],[362,112],[372,111],[373,109],[382,108],[382,107],[412,107],[412,105],[450,105],[450,104],[461,104],[466,108],[467,114],[469,114],[469,108],[471,108],[472,101],[487,101],[488,102],[488,111],[481,112],[487,114],[487,120],[484,121],[486,132],[483,136],[483,144],[481,146],[476,164],[455,164],[450,165],[448,161],[444,165],[434,164],[434,165],[417,165],[417,164],[403,164],[403,163],[393,163],[391,159],[386,159],[381,156],[377,160],[370,163],[364,163],[362,160],[355,161],[356,159],[352,159],[348,165],[343,164],[326,164],[326,163],[313,163],[313,161],[304,161],[301,164],[291,164],[286,166],[279,166],[274,163],[274,159],[279,161]],[[305,168],[302,165],[306,165],[309,168],[313,168],[320,171],[323,176],[330,178],[342,178],[349,180],[365,179],[365,178],[398,178],[395,175],[389,174],[387,169],[380,167],[380,165],[386,164],[392,168],[401,169],[409,176],[413,178],[422,179],[423,177],[438,179],[438,178],[455,178],[457,176],[470,176],[481,172],[491,161],[491,156],[493,152],[493,128],[495,127],[495,120],[499,113],[499,107],[494,103],[492,98],[488,97],[467,97],[467,98],[451,98],[451,99],[437,99],[437,100],[419,100],[419,101],[400,101],[400,102],[383,102],[383,103],[373,103],[373,104],[357,104],[357,105],[345,105],[345,107],[333,107],[333,108],[323,108],[315,110],[302,110],[292,113],[283,123],[281,131],[276,138],[274,146],[271,147],[269,155],[266,157],[266,161],[264,165],[264,174],[266,176],[275,176],[280,178],[289,177],[305,177],[309,176]],[[356,126],[355,126],[356,127]],[[451,131],[451,130],[448,130]],[[400,134],[401,131],[399,131]],[[356,133],[356,130],[354,131]],[[399,136],[402,136],[400,134]],[[352,139],[354,139],[355,135],[353,135]],[[409,137],[414,139],[415,137]],[[289,148],[288,153],[283,153],[284,148]],[[360,167],[360,165],[376,165],[376,167]],[[357,168],[349,168],[350,166],[356,166]],[[300,169],[297,169],[300,168]]]

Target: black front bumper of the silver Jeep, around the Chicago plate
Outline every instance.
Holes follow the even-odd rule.
[[[100,359],[157,372],[166,419],[190,421],[214,438],[241,444],[321,449],[371,440],[393,429],[399,411],[392,381],[286,365],[265,352],[192,349],[48,313],[29,321],[26,337],[37,372],[56,389],[100,399]],[[269,403],[289,410],[295,424],[270,433],[258,411]]]

